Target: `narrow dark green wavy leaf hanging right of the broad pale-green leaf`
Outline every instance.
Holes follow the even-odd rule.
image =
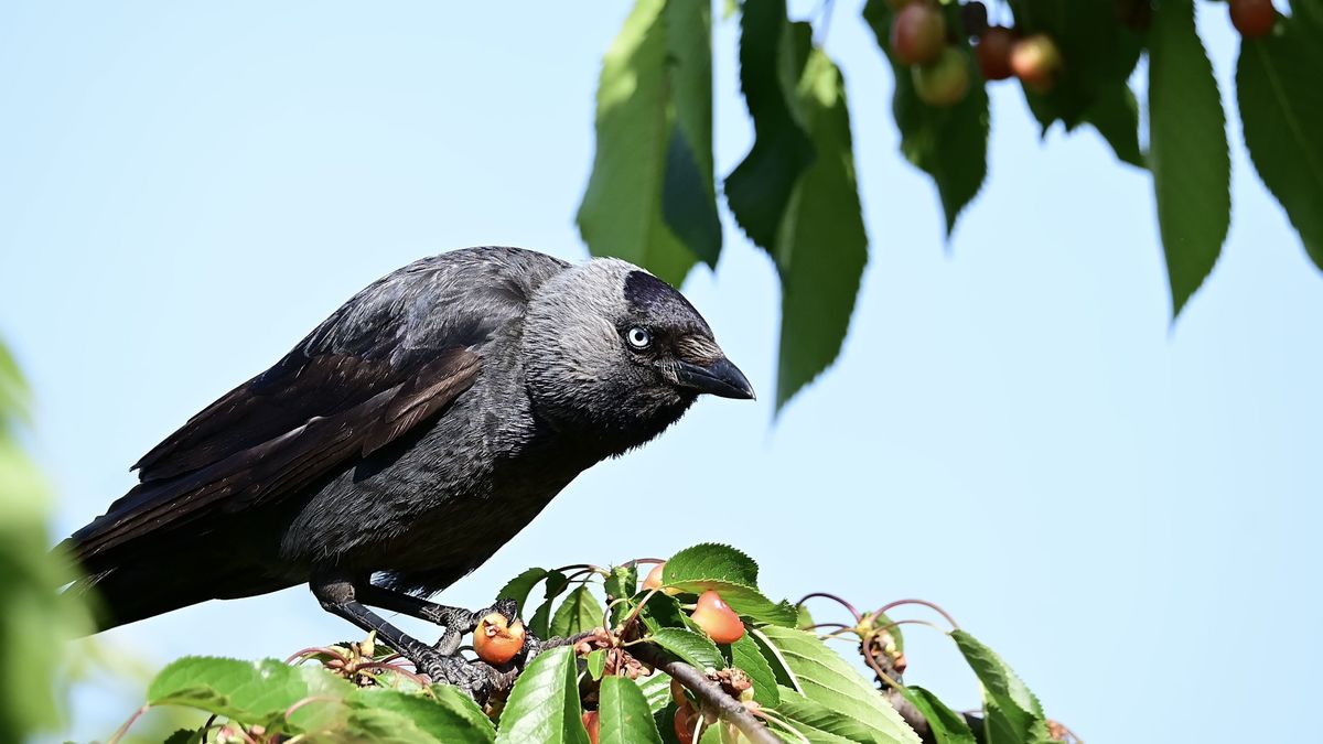
[[[736,221],[767,250],[800,173],[814,160],[808,134],[792,111],[796,64],[785,0],[746,4],[740,17],[740,89],[753,118],[754,143],[726,176],[725,192]]]

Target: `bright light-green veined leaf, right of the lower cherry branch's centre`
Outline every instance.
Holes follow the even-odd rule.
[[[791,674],[791,687],[810,700],[868,727],[876,741],[919,744],[900,714],[845,659],[812,633],[767,626],[754,631],[773,646]],[[785,694],[782,694],[785,706]]]

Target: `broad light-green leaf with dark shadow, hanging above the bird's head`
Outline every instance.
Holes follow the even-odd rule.
[[[602,60],[597,155],[578,212],[594,256],[618,256],[679,285],[696,257],[716,265],[710,8],[638,0]]]

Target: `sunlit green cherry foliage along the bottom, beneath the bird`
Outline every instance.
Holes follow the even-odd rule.
[[[1052,739],[1037,698],[1000,657],[963,630],[953,630],[950,637],[984,690],[984,720],[978,733],[968,723],[972,719],[927,690],[901,684],[904,665],[871,680],[811,630],[750,617],[740,639],[713,643],[687,613],[696,592],[708,590],[710,582],[761,592],[758,565],[742,552],[712,543],[695,545],[672,556],[662,573],[662,586],[642,590],[626,581],[636,575],[632,565],[538,568],[507,584],[501,594],[527,596],[538,581],[552,579],[548,594],[558,597],[553,617],[593,617],[597,622],[577,635],[577,643],[550,647],[528,661],[513,686],[497,691],[486,707],[456,687],[430,684],[407,671],[370,637],[348,646],[310,649],[295,657],[295,666],[273,659],[179,659],[151,683],[148,706],[185,706],[213,715],[204,728],[176,732],[172,744],[201,741],[204,733],[258,743],[303,736],[318,741],[583,744],[590,718],[595,719],[597,741],[656,744],[676,740],[672,721],[681,714],[699,729],[695,740],[700,743],[746,741],[720,699],[751,711],[751,720],[761,720],[769,733],[787,741],[918,744],[914,725],[939,744],[1041,744]],[[577,579],[566,581],[565,576]],[[561,590],[574,582],[572,592]],[[603,628],[606,604],[624,612],[613,613],[614,620]],[[881,610],[856,613],[851,633],[859,635],[832,637],[855,638],[863,653],[877,633],[889,633],[885,618]],[[888,646],[886,653],[890,661],[884,663],[900,658],[896,646]],[[651,663],[677,659],[713,687],[692,680],[677,687],[683,675],[671,679],[667,670],[672,667],[654,670],[640,658],[654,659]],[[886,684],[878,690],[877,682]],[[918,718],[902,718],[889,702],[888,684],[897,686],[896,692]]]

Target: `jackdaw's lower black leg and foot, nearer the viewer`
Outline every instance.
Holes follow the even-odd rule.
[[[353,581],[341,576],[323,576],[315,577],[310,585],[327,612],[348,620],[363,630],[376,631],[377,638],[400,651],[421,674],[426,674],[434,682],[448,682],[478,700],[483,700],[499,682],[490,666],[482,662],[470,663],[452,651],[445,654],[386,622],[359,601]]]

